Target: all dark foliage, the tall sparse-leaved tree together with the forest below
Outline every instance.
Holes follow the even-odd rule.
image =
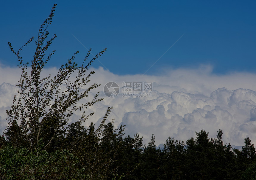
[[[196,139],[186,141],[169,137],[163,149],[156,148],[152,134],[148,145],[143,137],[124,136],[124,127],[115,129],[113,121],[105,123],[112,107],[106,110],[99,127],[93,123],[85,128],[82,117],[68,124],[74,111],[102,101],[98,93],[87,103],[77,102],[88,97],[94,83],[84,88],[92,71],[85,76],[90,64],[101,56],[99,52],[85,66],[90,52],[81,66],[74,63],[76,52],[61,66],[57,76],[41,78],[41,71],[54,51],[45,58],[46,50],[56,38],[47,40],[46,30],[51,24],[56,4],[39,29],[35,41],[36,51],[31,61],[23,63],[20,51],[33,41],[33,37],[14,51],[22,70],[18,81],[18,96],[7,111],[8,127],[0,136],[0,180],[4,179],[256,179],[256,154],[254,145],[245,138],[242,150],[223,144],[222,130],[217,138],[209,138],[205,130],[196,132]],[[74,75],[75,74],[75,75]],[[75,77],[72,79],[72,77]],[[83,90],[86,89],[86,90]]]

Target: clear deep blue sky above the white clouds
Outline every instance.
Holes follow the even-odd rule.
[[[255,1],[3,1],[1,2],[0,63],[17,65],[8,41],[17,50],[57,3],[50,34],[57,50],[48,66],[60,66],[77,50],[87,48],[114,74],[143,74],[174,42],[147,74],[163,69],[213,66],[213,73],[256,71]],[[83,47],[82,44],[85,46]],[[31,59],[32,46],[24,49]],[[93,67],[102,66],[96,61]]]

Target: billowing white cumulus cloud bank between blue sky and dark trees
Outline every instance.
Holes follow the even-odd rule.
[[[114,109],[109,120],[114,125],[125,126],[125,134],[133,136],[138,132],[147,144],[154,133],[156,145],[164,144],[171,136],[178,140],[195,137],[201,129],[215,138],[217,131],[223,129],[224,143],[243,146],[244,138],[249,137],[256,144],[256,74],[234,72],[226,75],[212,74],[211,66],[198,69],[166,69],[161,75],[116,75],[103,68],[96,71],[91,82],[101,87],[99,97],[104,101],[86,111],[95,115],[85,122],[99,124],[108,106]],[[56,68],[46,69],[43,74],[54,74]],[[0,66],[0,131],[6,123],[6,109],[10,109],[13,95],[17,92],[15,83],[20,77],[17,68]],[[104,95],[103,87],[107,82],[116,82],[120,87],[118,96],[109,98]],[[152,82],[152,91],[147,97],[125,96],[123,82]],[[90,97],[96,93],[90,93]],[[132,92],[138,94],[138,92]],[[89,98],[90,98],[89,97]],[[84,99],[83,101],[87,101]],[[79,118],[75,112],[70,121]]]

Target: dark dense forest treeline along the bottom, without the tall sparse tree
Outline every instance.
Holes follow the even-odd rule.
[[[49,125],[46,127],[50,127]],[[205,130],[184,141],[169,137],[163,149],[155,137],[143,146],[143,137],[124,136],[124,127],[110,122],[102,135],[91,124],[71,123],[51,144],[44,134],[30,149],[17,123],[1,136],[0,179],[255,179],[255,148],[245,138],[242,150],[223,144],[222,130],[209,138]]]

